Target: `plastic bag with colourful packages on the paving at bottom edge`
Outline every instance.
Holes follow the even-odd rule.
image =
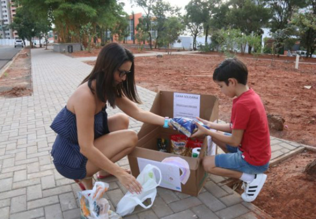
[[[108,189],[108,183],[96,182],[92,190],[78,192],[81,208],[81,219],[122,219],[110,210],[108,201],[103,194]]]

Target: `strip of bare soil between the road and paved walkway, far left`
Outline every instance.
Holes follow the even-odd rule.
[[[0,96],[32,95],[31,53],[24,48],[0,78]]]

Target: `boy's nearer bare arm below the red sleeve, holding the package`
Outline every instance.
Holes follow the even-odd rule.
[[[216,138],[217,140],[230,145],[230,146],[239,146],[242,142],[244,129],[233,129],[231,135],[224,135],[219,132],[211,131],[200,124],[196,123],[196,126],[199,128],[197,132],[195,132],[191,137],[198,137],[201,135],[210,135],[212,138]]]

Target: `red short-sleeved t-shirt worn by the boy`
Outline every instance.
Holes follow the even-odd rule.
[[[230,127],[244,130],[239,149],[246,162],[261,166],[270,161],[268,120],[260,96],[252,89],[233,100]]]

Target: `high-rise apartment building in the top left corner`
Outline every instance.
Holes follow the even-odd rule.
[[[18,32],[8,29],[7,26],[12,23],[16,15],[15,3],[12,0],[0,0],[0,37],[4,39],[17,39]]]

